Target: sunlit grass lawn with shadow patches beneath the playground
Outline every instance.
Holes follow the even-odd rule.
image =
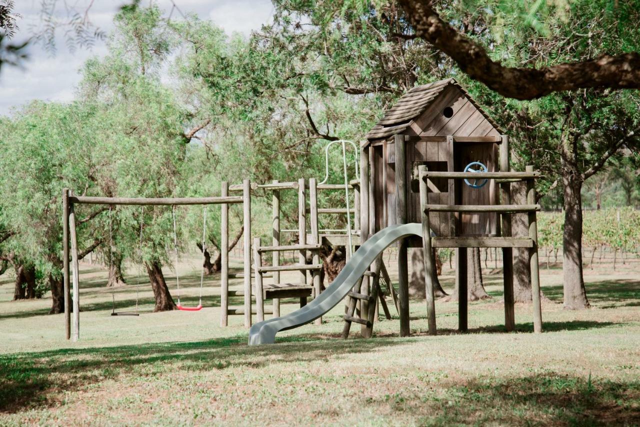
[[[196,260],[181,267],[183,303],[197,303]],[[390,266],[394,276],[394,266]],[[115,291],[135,305],[136,269]],[[570,312],[562,272],[541,269],[545,333],[532,334],[530,305],[516,306],[517,333],[503,332],[499,275],[485,271],[491,300],[470,303],[458,334],[456,303],[436,302],[429,337],[424,301],[412,300],[412,332],[376,323],[373,339],[342,330],[336,307],[322,326],[246,346],[242,316],[220,325],[220,280],[205,286],[200,312],[152,314],[150,286],[140,317],[112,317],[106,274],[81,271],[81,341],[64,339],[51,300],[11,302],[0,278],[0,425],[13,424],[640,424],[640,279],[620,268],[585,271],[592,309]],[[175,282],[166,271],[175,296]],[[184,279],[182,279],[184,277]],[[453,286],[451,270],[442,282]],[[233,280],[232,288],[241,288]],[[241,305],[240,298],[232,304]],[[295,309],[287,302],[283,312]],[[391,307],[392,314],[397,314]]]

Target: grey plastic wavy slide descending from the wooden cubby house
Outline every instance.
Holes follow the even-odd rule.
[[[273,344],[276,334],[281,330],[293,329],[310,323],[333,309],[353,289],[353,286],[383,250],[398,239],[412,235],[422,237],[422,224],[391,225],[374,234],[356,250],[338,277],[320,296],[287,316],[265,320],[253,325],[249,330],[249,345]]]

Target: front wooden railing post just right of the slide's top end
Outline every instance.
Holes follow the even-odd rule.
[[[427,320],[429,323],[429,335],[436,334],[436,305],[433,292],[433,272],[435,271],[433,251],[431,250],[431,225],[429,213],[425,212],[429,204],[429,188],[420,173],[427,172],[427,166],[419,166],[418,179],[420,184],[420,214],[422,216],[422,251],[424,252],[424,287],[427,300]]]

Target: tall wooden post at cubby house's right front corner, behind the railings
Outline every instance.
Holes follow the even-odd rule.
[[[500,172],[509,172],[509,137],[502,135],[500,144]],[[500,204],[511,204],[511,184],[500,184]],[[501,234],[511,236],[511,214],[502,214]],[[516,328],[513,305],[513,249],[502,248],[502,276],[504,277],[504,326],[507,332]]]

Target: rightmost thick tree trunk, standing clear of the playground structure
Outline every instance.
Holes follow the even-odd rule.
[[[589,307],[582,277],[582,175],[578,170],[575,144],[575,141],[563,141],[561,149],[564,185],[564,308],[570,310]]]

